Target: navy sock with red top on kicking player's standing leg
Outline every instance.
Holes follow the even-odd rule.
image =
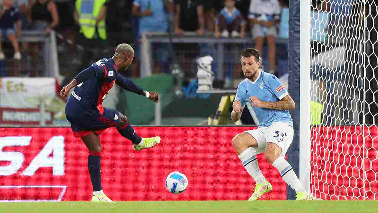
[[[91,176],[93,191],[100,191],[101,188],[101,152],[89,152],[88,170]]]

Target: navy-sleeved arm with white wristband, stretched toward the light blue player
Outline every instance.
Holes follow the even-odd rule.
[[[121,74],[117,75],[116,84],[121,86],[123,89],[134,92],[141,96],[146,96],[148,99],[153,100],[154,102],[158,102],[159,96],[157,92],[147,92],[136,85],[130,78],[126,78]]]

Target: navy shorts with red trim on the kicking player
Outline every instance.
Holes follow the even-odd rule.
[[[92,132],[100,135],[105,129],[114,127],[121,122],[119,112],[117,110],[104,108],[104,113],[89,116],[85,113],[75,113],[75,116],[67,114],[67,120],[71,122],[73,135],[81,138]],[[126,124],[125,126],[127,126]]]

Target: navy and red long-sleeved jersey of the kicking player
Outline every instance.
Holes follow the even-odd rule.
[[[102,101],[115,83],[130,92],[143,94],[143,89],[118,73],[118,67],[112,58],[103,58],[93,63],[80,72],[75,79],[78,85],[74,88],[66,105],[71,113],[79,110],[89,115],[103,114]]]

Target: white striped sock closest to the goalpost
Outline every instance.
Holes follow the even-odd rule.
[[[285,160],[282,156],[278,157],[274,162],[273,166],[277,168],[277,170],[280,172],[281,177],[285,182],[293,189],[295,192],[301,193],[306,192],[303,188],[301,182],[299,182],[299,179],[297,175],[295,174],[293,168],[291,168],[288,161]]]

